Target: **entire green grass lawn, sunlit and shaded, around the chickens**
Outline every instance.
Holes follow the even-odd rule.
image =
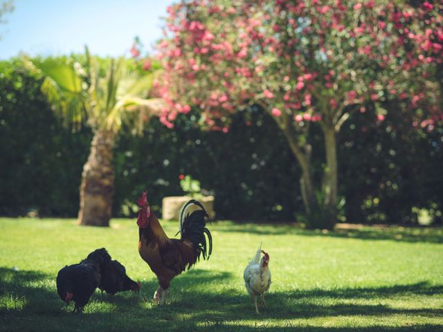
[[[163,222],[172,237],[177,222]],[[72,219],[0,219],[0,331],[443,331],[443,229],[310,232],[291,225],[210,225],[209,261],[172,282],[168,304],[138,256],[136,219],[111,228]],[[260,244],[273,284],[257,316],[243,270]],[[81,315],[55,288],[57,271],[105,247],[143,284],[97,291]]]

